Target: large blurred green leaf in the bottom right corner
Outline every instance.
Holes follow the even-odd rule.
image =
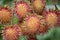
[[[60,40],[60,27],[51,28],[48,33],[37,35],[38,40]]]

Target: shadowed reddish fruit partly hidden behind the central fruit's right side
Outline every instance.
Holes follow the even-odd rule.
[[[41,24],[40,24],[40,28],[39,28],[38,34],[40,34],[40,33],[44,34],[44,33],[48,32],[49,28],[46,25],[44,17],[40,16],[40,19],[41,19],[41,22],[40,22]]]

